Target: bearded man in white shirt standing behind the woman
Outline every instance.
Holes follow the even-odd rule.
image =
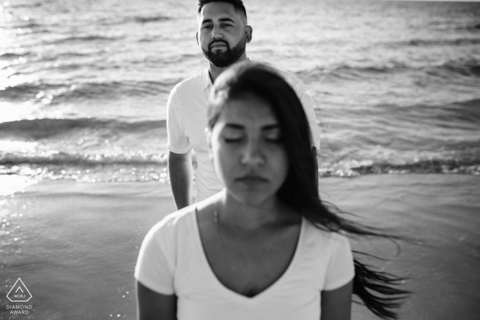
[[[207,127],[207,101],[213,82],[222,71],[235,62],[250,59],[245,47],[252,40],[252,27],[247,23],[241,0],[199,0],[197,4],[197,44],[208,59],[208,69],[177,84],[167,102],[168,167],[171,190],[178,209],[189,206],[191,201],[191,149],[197,160],[197,200],[206,199],[222,188],[208,156],[204,132]],[[315,120],[313,101],[305,93],[300,79],[286,71],[278,71],[302,101],[309,119],[315,153],[320,147],[320,131]]]

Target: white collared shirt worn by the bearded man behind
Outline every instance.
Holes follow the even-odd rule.
[[[295,75],[277,69],[295,90],[307,114],[313,147],[320,149],[318,129],[313,101],[306,93],[303,82]],[[171,90],[167,101],[167,148],[173,153],[186,153],[193,148],[197,160],[197,201],[218,193],[223,186],[217,179],[213,164],[208,157],[205,128],[206,108],[213,84],[208,69],[189,77]]]

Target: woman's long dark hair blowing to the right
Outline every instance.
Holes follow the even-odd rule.
[[[289,172],[277,193],[280,201],[323,230],[389,237],[373,227],[365,227],[339,217],[339,210],[320,199],[307,116],[295,91],[272,67],[256,62],[241,62],[224,71],[217,78],[211,95],[208,126],[213,128],[225,101],[241,99],[245,93],[253,93],[269,101],[280,125],[289,159]],[[409,293],[397,288],[403,279],[363,264],[357,258],[359,254],[361,255],[354,251],[353,293],[375,315],[384,319],[396,319],[394,309],[400,306],[402,299]]]

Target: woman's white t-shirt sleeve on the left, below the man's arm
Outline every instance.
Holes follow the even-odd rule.
[[[163,295],[175,293],[173,288],[174,245],[169,241],[168,231],[155,226],[147,233],[135,267],[135,279]]]

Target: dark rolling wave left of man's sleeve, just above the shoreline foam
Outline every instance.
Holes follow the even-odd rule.
[[[73,130],[101,130],[136,133],[157,130],[167,126],[165,120],[124,122],[103,119],[23,119],[0,123],[2,138],[39,139],[63,136]]]

